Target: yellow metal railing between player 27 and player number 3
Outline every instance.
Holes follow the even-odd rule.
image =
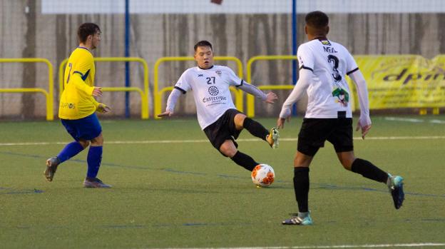
[[[249,61],[247,61],[247,68],[246,68],[246,73],[247,73],[247,79],[246,81],[251,83],[252,81],[252,63],[254,63],[255,61],[276,61],[276,60],[297,60],[298,57],[297,56],[253,56],[252,58],[249,59]],[[258,88],[262,89],[262,90],[287,90],[287,89],[292,89],[294,88],[293,85],[264,85],[264,86],[259,86]],[[255,97],[247,94],[247,112],[246,115],[250,118],[255,116]]]

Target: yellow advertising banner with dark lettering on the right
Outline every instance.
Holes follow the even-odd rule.
[[[367,81],[370,109],[445,106],[445,55],[432,60],[416,55],[354,59]]]

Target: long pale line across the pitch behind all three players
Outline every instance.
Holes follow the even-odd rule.
[[[375,136],[366,140],[417,140],[417,139],[445,139],[445,136]],[[354,140],[362,140],[356,137]],[[237,139],[240,142],[260,142],[259,138]],[[297,141],[297,138],[280,138],[280,141]],[[66,142],[24,142],[24,143],[0,143],[0,146],[48,146],[54,144],[65,145]],[[106,141],[106,144],[144,144],[144,143],[208,143],[207,139],[198,140],[145,140],[145,141]]]

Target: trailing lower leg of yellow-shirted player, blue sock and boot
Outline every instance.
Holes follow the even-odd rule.
[[[68,143],[63,150],[58,153],[57,156],[49,158],[46,160],[46,170],[44,171],[44,176],[47,181],[53,181],[54,174],[57,171],[57,166],[69,158],[76,156],[79,152],[83,151],[83,146],[81,143],[74,141]]]

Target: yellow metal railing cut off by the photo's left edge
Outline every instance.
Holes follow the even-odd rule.
[[[0,63],[22,62],[37,63],[43,62],[48,65],[48,91],[44,88],[0,88],[0,93],[44,93],[46,98],[46,120],[52,121],[53,115],[53,64],[44,58],[0,58]]]

